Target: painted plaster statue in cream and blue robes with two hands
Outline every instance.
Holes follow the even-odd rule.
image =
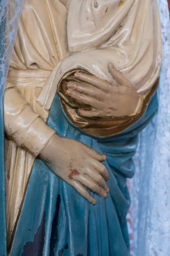
[[[4,93],[9,255],[129,255],[159,26],[156,0],[25,0]]]

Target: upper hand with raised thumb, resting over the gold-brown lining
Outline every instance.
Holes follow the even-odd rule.
[[[108,69],[116,83],[109,83],[95,76],[76,73],[75,77],[85,82],[68,82],[67,94],[77,101],[90,105],[91,110],[78,110],[85,117],[130,116],[134,113],[139,96],[136,89],[120,73],[113,63]]]

